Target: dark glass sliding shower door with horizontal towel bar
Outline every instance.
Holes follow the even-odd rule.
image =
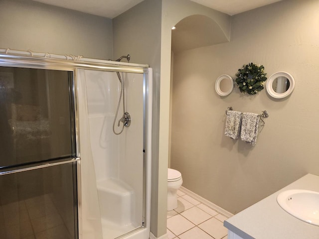
[[[0,238],[77,239],[73,75],[0,67]]]

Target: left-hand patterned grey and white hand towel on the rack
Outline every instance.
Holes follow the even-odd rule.
[[[241,123],[241,112],[227,111],[225,135],[233,139],[239,137]]]

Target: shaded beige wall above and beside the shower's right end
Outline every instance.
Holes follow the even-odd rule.
[[[131,62],[153,68],[151,232],[166,233],[166,191],[159,170],[160,24],[161,0],[145,0],[113,19],[114,57],[131,55]],[[166,170],[167,171],[167,170]]]

